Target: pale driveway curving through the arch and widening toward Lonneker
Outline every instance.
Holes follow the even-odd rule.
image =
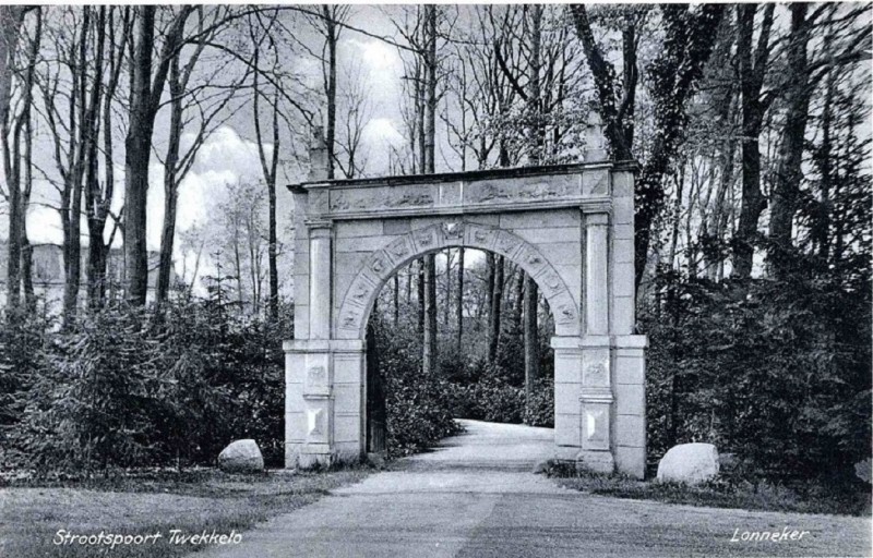
[[[870,519],[750,512],[591,496],[534,463],[548,428],[462,421],[467,432],[200,556],[635,557],[871,556]],[[732,542],[734,531],[809,531]]]

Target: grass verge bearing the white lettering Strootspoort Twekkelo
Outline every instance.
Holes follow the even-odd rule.
[[[213,531],[241,533],[273,515],[311,504],[368,474],[364,468],[318,473],[272,471],[232,475],[215,470],[121,476],[74,483],[26,483],[0,488],[0,556],[177,557],[212,544],[170,541]],[[140,544],[56,544],[75,535],[153,535]],[[242,541],[246,535],[242,533]],[[106,541],[106,538],[104,538]]]

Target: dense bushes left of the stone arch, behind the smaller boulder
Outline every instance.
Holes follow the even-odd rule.
[[[2,466],[211,464],[238,438],[279,464],[287,335],[220,298],[158,313],[107,307],[61,332],[8,328],[4,356],[26,349],[31,364],[3,386]]]

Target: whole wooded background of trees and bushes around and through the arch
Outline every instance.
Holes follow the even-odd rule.
[[[597,111],[608,155],[639,162],[650,460],[711,441],[749,478],[858,483],[869,4],[395,7],[372,29],[359,10],[0,8],[3,469],[211,463],[240,437],[278,464],[292,336],[278,187],[304,175],[313,126],[331,175],[355,178],[577,161],[601,147],[585,145]],[[350,36],[403,61],[399,144],[364,140],[380,84],[342,59]],[[200,149],[240,122],[260,174],[180,233]],[[58,292],[35,280],[36,189],[62,225]],[[399,270],[371,320],[390,452],[453,432],[453,415],[550,424],[550,320],[500,256]]]

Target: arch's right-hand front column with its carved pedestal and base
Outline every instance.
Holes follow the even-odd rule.
[[[612,383],[609,338],[609,214],[585,215],[585,271],[582,347],[582,449],[577,460],[587,469],[611,473]]]

